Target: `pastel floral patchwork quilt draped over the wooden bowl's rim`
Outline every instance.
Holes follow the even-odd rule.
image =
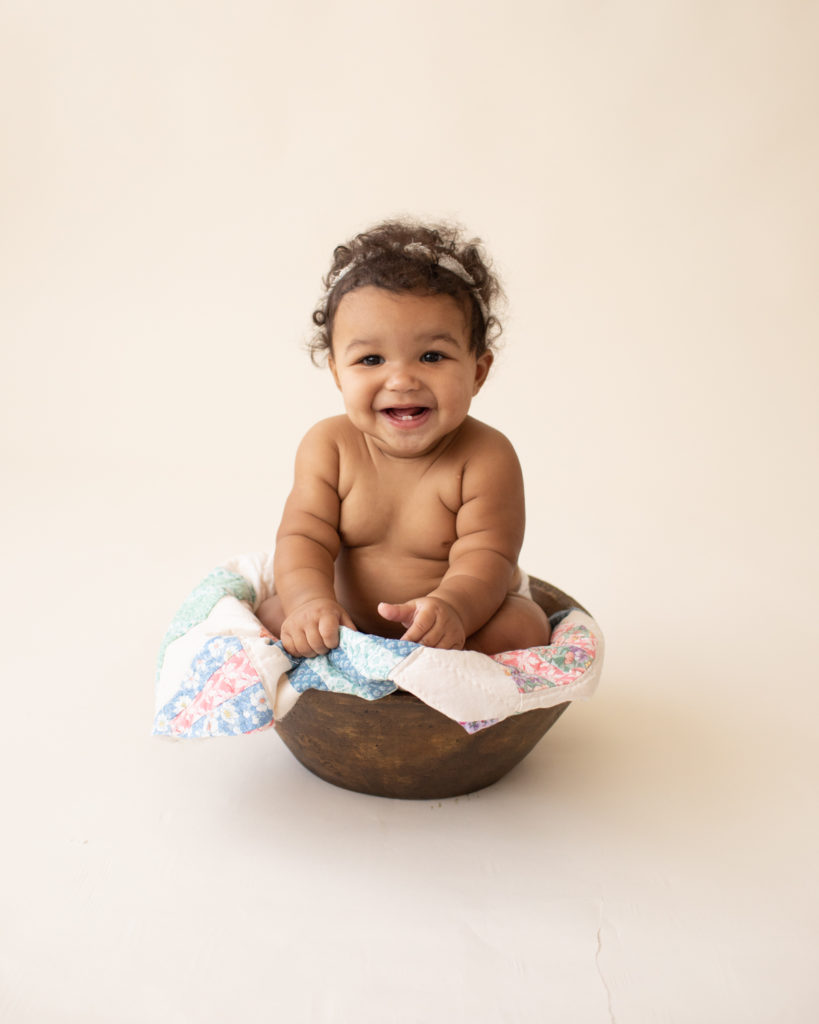
[[[266,729],[307,689],[365,700],[406,690],[476,732],[533,708],[586,699],[600,678],[603,635],[578,608],[553,617],[548,646],[492,656],[342,627],[335,650],[294,658],[254,614],[272,586],[272,556],[243,555],[214,569],[188,595],[160,649],[155,735]]]

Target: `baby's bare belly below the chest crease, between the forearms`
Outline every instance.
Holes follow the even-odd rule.
[[[448,568],[445,559],[416,558],[378,545],[342,548],[336,560],[336,597],[363,633],[399,637],[400,624],[376,610],[380,601],[400,604],[434,590]]]

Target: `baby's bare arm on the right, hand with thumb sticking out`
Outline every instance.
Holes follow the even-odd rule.
[[[463,476],[463,504],[449,568],[430,594],[404,604],[381,604],[385,618],[408,627],[404,640],[462,648],[498,611],[509,593],[523,543],[523,475],[503,434],[481,436]]]

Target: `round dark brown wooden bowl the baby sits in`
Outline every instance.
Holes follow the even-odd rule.
[[[530,582],[547,614],[581,607],[542,580]],[[441,800],[497,782],[566,708],[536,708],[470,734],[400,690],[379,700],[306,690],[275,728],[304,767],[327,782],[377,797]]]

